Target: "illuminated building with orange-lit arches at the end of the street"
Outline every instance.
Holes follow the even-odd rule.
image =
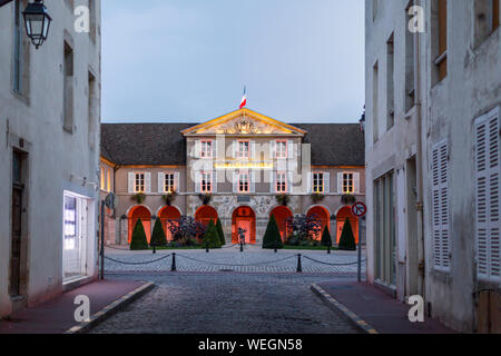
[[[116,225],[108,244],[127,245],[138,219],[149,238],[156,217],[165,225],[180,216],[219,218],[228,244],[238,228],[247,243],[261,244],[272,214],[284,238],[286,219],[299,214],[317,216],[333,236],[350,218],[357,235],[342,197],[365,200],[358,125],[292,126],[244,108],[202,125],[109,123],[101,132],[101,198],[112,191],[119,201],[107,211]],[[167,207],[169,190],[176,200]],[[312,200],[314,191],[322,201]],[[131,199],[137,192],[146,195],[140,205]],[[279,194],[289,197],[286,207]]]

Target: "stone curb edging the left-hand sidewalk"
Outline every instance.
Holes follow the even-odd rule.
[[[90,317],[89,322],[84,322],[79,325],[73,326],[69,330],[67,330],[65,334],[84,334],[89,332],[91,328],[96,327],[98,324],[102,323],[117,312],[121,310],[126,306],[130,305],[148,291],[150,291],[155,287],[155,284],[151,281],[145,283],[139,288],[126,294],[121,298],[115,300],[107,307],[102,308],[95,315]]]

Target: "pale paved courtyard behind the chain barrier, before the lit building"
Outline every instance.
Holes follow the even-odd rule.
[[[108,273],[163,273],[169,271],[176,253],[178,271],[198,273],[295,273],[297,255],[302,254],[302,267],[306,274],[335,274],[355,276],[357,273],[356,251],[311,250],[263,250],[258,246],[247,246],[244,253],[238,246],[219,250],[159,250],[156,255],[145,251],[129,251],[120,248],[106,249],[106,271]],[[362,274],[365,275],[365,251],[363,253]]]

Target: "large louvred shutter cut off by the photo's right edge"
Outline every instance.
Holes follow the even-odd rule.
[[[475,121],[478,278],[501,281],[500,268],[500,118],[499,108]]]

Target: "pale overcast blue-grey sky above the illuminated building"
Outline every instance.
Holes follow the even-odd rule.
[[[105,122],[357,122],[364,1],[102,1]]]

